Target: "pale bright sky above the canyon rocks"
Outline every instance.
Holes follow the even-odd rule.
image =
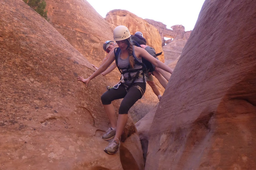
[[[185,31],[193,30],[205,0],[87,0],[105,18],[114,9],[127,10],[143,19],[162,22],[171,29],[173,25],[183,25]]]

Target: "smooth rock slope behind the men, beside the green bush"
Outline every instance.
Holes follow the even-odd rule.
[[[90,63],[99,66],[106,55],[102,44],[113,39],[109,23],[87,1],[46,0],[46,4],[49,23]]]

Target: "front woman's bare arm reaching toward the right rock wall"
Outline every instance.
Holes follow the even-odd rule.
[[[135,46],[135,54],[136,54],[136,56],[145,58],[146,60],[151,62],[156,67],[159,67],[159,68],[172,74],[173,70],[170,67],[168,67],[167,65],[165,65],[164,63],[162,63],[161,61],[159,61],[152,55],[150,55],[145,49]]]

